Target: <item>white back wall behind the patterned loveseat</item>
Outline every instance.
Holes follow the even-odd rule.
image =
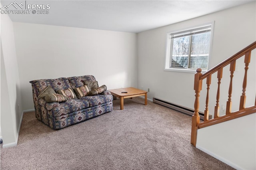
[[[136,34],[14,22],[24,110],[29,81],[94,75],[108,89],[137,87]]]

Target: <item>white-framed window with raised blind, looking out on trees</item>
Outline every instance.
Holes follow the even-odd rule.
[[[213,23],[167,34],[167,71],[208,70]]]

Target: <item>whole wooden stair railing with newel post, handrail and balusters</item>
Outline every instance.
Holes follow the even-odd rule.
[[[215,125],[217,123],[221,123],[224,121],[228,121],[231,119],[235,119],[238,117],[242,117],[245,115],[249,115],[251,113],[256,113],[256,99],[254,106],[245,108],[245,102],[246,102],[246,83],[247,83],[247,71],[248,66],[250,63],[250,57],[251,57],[251,51],[256,48],[256,42],[248,45],[232,57],[226,59],[222,63],[216,65],[212,69],[208,70],[206,73],[202,74],[202,69],[198,68],[196,69],[196,74],[194,77],[194,90],[195,90],[195,103],[194,103],[194,115],[192,116],[192,127],[191,127],[191,144],[196,146],[196,136],[197,136],[197,130],[199,128],[208,127],[210,125]],[[244,56],[244,63],[245,63],[245,71],[244,71],[244,80],[242,85],[242,95],[240,97],[240,106],[239,110],[232,113],[232,80],[234,77],[234,71],[236,68],[236,60],[240,57]],[[226,115],[219,117],[219,99],[220,99],[220,84],[222,79],[222,72],[223,67],[230,64],[230,84],[228,89],[228,101],[226,105]],[[210,90],[210,84],[211,84],[211,78],[212,74],[217,72],[217,78],[218,78],[218,89],[217,89],[217,95],[216,95],[216,106],[214,107],[214,119],[208,120],[209,116],[209,110],[208,110],[208,102],[209,102],[209,90]],[[202,80],[206,78],[206,85],[207,85],[207,93],[206,93],[206,108],[204,111],[204,121],[200,123],[200,116],[199,116],[199,97],[200,97],[200,91],[202,90]]]

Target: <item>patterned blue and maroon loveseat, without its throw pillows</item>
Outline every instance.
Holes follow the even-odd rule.
[[[92,89],[88,85],[91,91],[87,95],[81,95],[80,97],[74,95],[73,99],[72,97],[66,98],[60,95],[66,99],[62,102],[46,102],[46,96],[45,98],[40,97],[40,94],[42,95],[45,93],[46,89],[49,88],[54,90],[52,93],[56,94],[52,95],[55,96],[58,95],[59,91],[66,89],[74,92],[74,89],[83,87],[85,82],[93,83],[98,86],[98,82],[93,75],[30,81],[32,84],[36,118],[53,129],[60,129],[112,111],[113,96],[106,90],[106,86],[103,92],[100,91],[101,93],[99,94],[90,95]],[[48,97],[49,96],[50,93]]]

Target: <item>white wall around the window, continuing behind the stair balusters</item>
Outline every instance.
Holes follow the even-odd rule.
[[[150,93],[148,93],[149,99],[157,97],[194,109],[194,73],[164,71],[166,34],[212,21],[215,24],[210,68],[256,40],[255,2],[138,34],[138,88],[144,90],[150,88]],[[254,53],[248,70],[246,106],[253,105],[255,100],[255,58]],[[238,70],[234,73],[232,111],[238,109],[240,95],[242,94],[241,79],[244,77],[243,59],[238,60],[237,65]],[[220,105],[226,105],[228,99],[229,68],[225,67],[224,71],[227,72],[223,73]],[[213,108],[216,104],[217,82],[218,80],[215,74],[212,76],[212,85],[210,87],[210,114],[213,113]],[[206,96],[205,81],[200,94],[200,111],[204,111]]]

